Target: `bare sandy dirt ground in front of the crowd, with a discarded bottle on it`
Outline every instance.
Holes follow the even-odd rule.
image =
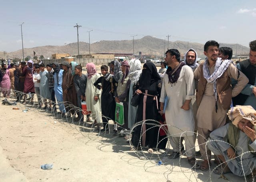
[[[164,155],[130,151],[130,143],[112,135],[112,129],[99,133],[91,123],[73,122],[30,104],[0,105],[0,115],[0,182],[244,181],[233,174],[225,174],[224,180],[191,169],[185,156],[170,159],[169,143]],[[50,163],[52,170],[40,168]],[[215,167],[212,162],[211,172]]]

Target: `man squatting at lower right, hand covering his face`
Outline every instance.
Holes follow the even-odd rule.
[[[216,174],[232,172],[238,176],[255,177],[256,156],[256,111],[252,106],[236,106],[228,111],[232,123],[228,123],[210,134],[209,149],[218,156],[221,166]],[[252,176],[254,174],[254,176]]]

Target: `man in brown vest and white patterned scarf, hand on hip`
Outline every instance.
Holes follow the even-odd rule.
[[[218,52],[218,42],[207,41],[204,45],[204,55],[207,59],[194,71],[195,80],[199,80],[198,86],[196,86],[198,105],[196,119],[198,122],[198,145],[204,160],[200,169],[203,171],[208,170],[208,162],[211,164],[211,151],[205,150],[204,143],[211,131],[226,123],[226,113],[230,107],[231,98],[238,95],[248,83],[248,78],[242,72],[239,74],[231,60],[222,61],[218,58]],[[238,84],[233,89],[231,88],[231,78],[238,80]]]

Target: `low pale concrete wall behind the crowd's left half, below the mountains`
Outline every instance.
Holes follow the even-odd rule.
[[[45,64],[50,63],[62,63],[65,59],[44,59],[42,62]],[[113,59],[93,59],[93,58],[74,58],[76,63],[79,63],[82,67],[85,67],[87,63],[94,63],[95,65],[108,65]]]

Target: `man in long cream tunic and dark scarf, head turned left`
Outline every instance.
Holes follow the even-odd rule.
[[[191,104],[191,99],[195,94],[193,71],[180,62],[180,52],[177,49],[166,51],[165,60],[168,68],[162,83],[160,110],[164,110],[164,101],[167,96],[170,102],[167,103],[165,111],[166,124],[174,126],[168,127],[172,135],[173,148],[170,158],[180,157],[180,137],[184,137],[188,163],[193,168],[199,168],[194,158],[194,115]]]

